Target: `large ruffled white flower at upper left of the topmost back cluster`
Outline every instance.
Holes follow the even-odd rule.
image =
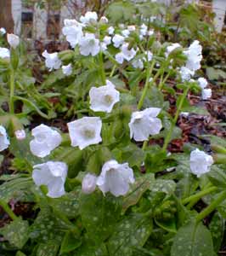
[[[62,29],[63,35],[66,40],[75,48],[83,36],[82,24],[76,20],[64,20],[65,26]]]

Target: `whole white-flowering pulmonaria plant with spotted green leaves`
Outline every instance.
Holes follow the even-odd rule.
[[[119,2],[115,2],[119,12]],[[152,2],[146,1],[140,9]],[[137,3],[123,2],[123,12],[127,5],[132,12]],[[197,91],[197,84],[202,99],[211,96],[206,79],[196,79],[202,47],[197,40],[162,44],[157,23],[147,14],[137,20],[134,12],[132,25],[127,20],[127,24],[112,26],[108,12],[107,18],[87,12],[78,20],[64,21],[62,32],[70,49],[42,53],[52,73],[40,86],[45,91],[51,85],[51,93],[45,91],[45,96],[54,100],[49,99],[47,105],[64,116],[58,126],[62,131],[43,124],[31,132],[28,127],[24,130],[14,123],[20,117],[14,114],[16,104],[8,102],[8,123],[0,116],[0,151],[8,148],[3,154],[15,156],[14,175],[3,176],[0,206],[14,221],[12,227],[7,225],[9,232],[1,229],[0,233],[10,250],[54,256],[181,256],[183,249],[192,256],[216,254],[212,242],[203,253],[198,236],[203,234],[201,245],[211,241],[201,220],[210,213],[209,221],[218,220],[215,212],[219,205],[223,208],[225,168],[218,165],[218,158],[225,158],[226,151],[211,143],[210,154],[199,149],[188,154],[194,145],[180,139],[182,132],[176,126],[192,116],[194,108],[189,114],[186,97],[189,91]],[[13,83],[21,72],[14,73],[11,63],[20,49],[11,44],[10,50],[0,48],[0,62],[11,71],[3,74],[1,83],[7,81],[9,97],[20,101],[12,88],[24,83]],[[31,107],[27,109],[37,109],[33,102]],[[179,144],[178,154],[173,152],[175,144]],[[221,154],[216,154],[216,148]],[[32,221],[10,211],[11,196],[15,201],[34,201]],[[200,201],[206,208],[196,212]],[[12,239],[18,223],[22,230],[28,227],[28,236],[23,231]],[[195,250],[190,251],[194,241]]]

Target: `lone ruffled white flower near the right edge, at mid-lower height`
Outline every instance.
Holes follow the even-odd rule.
[[[196,148],[190,153],[190,170],[197,177],[201,177],[203,173],[210,172],[212,164],[212,156],[206,154],[204,151]]]

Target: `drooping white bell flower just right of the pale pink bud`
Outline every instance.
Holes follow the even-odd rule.
[[[115,196],[126,195],[129,183],[134,183],[133,169],[127,163],[119,164],[116,160],[110,160],[102,167],[97,179],[99,189],[105,194],[110,191]]]

